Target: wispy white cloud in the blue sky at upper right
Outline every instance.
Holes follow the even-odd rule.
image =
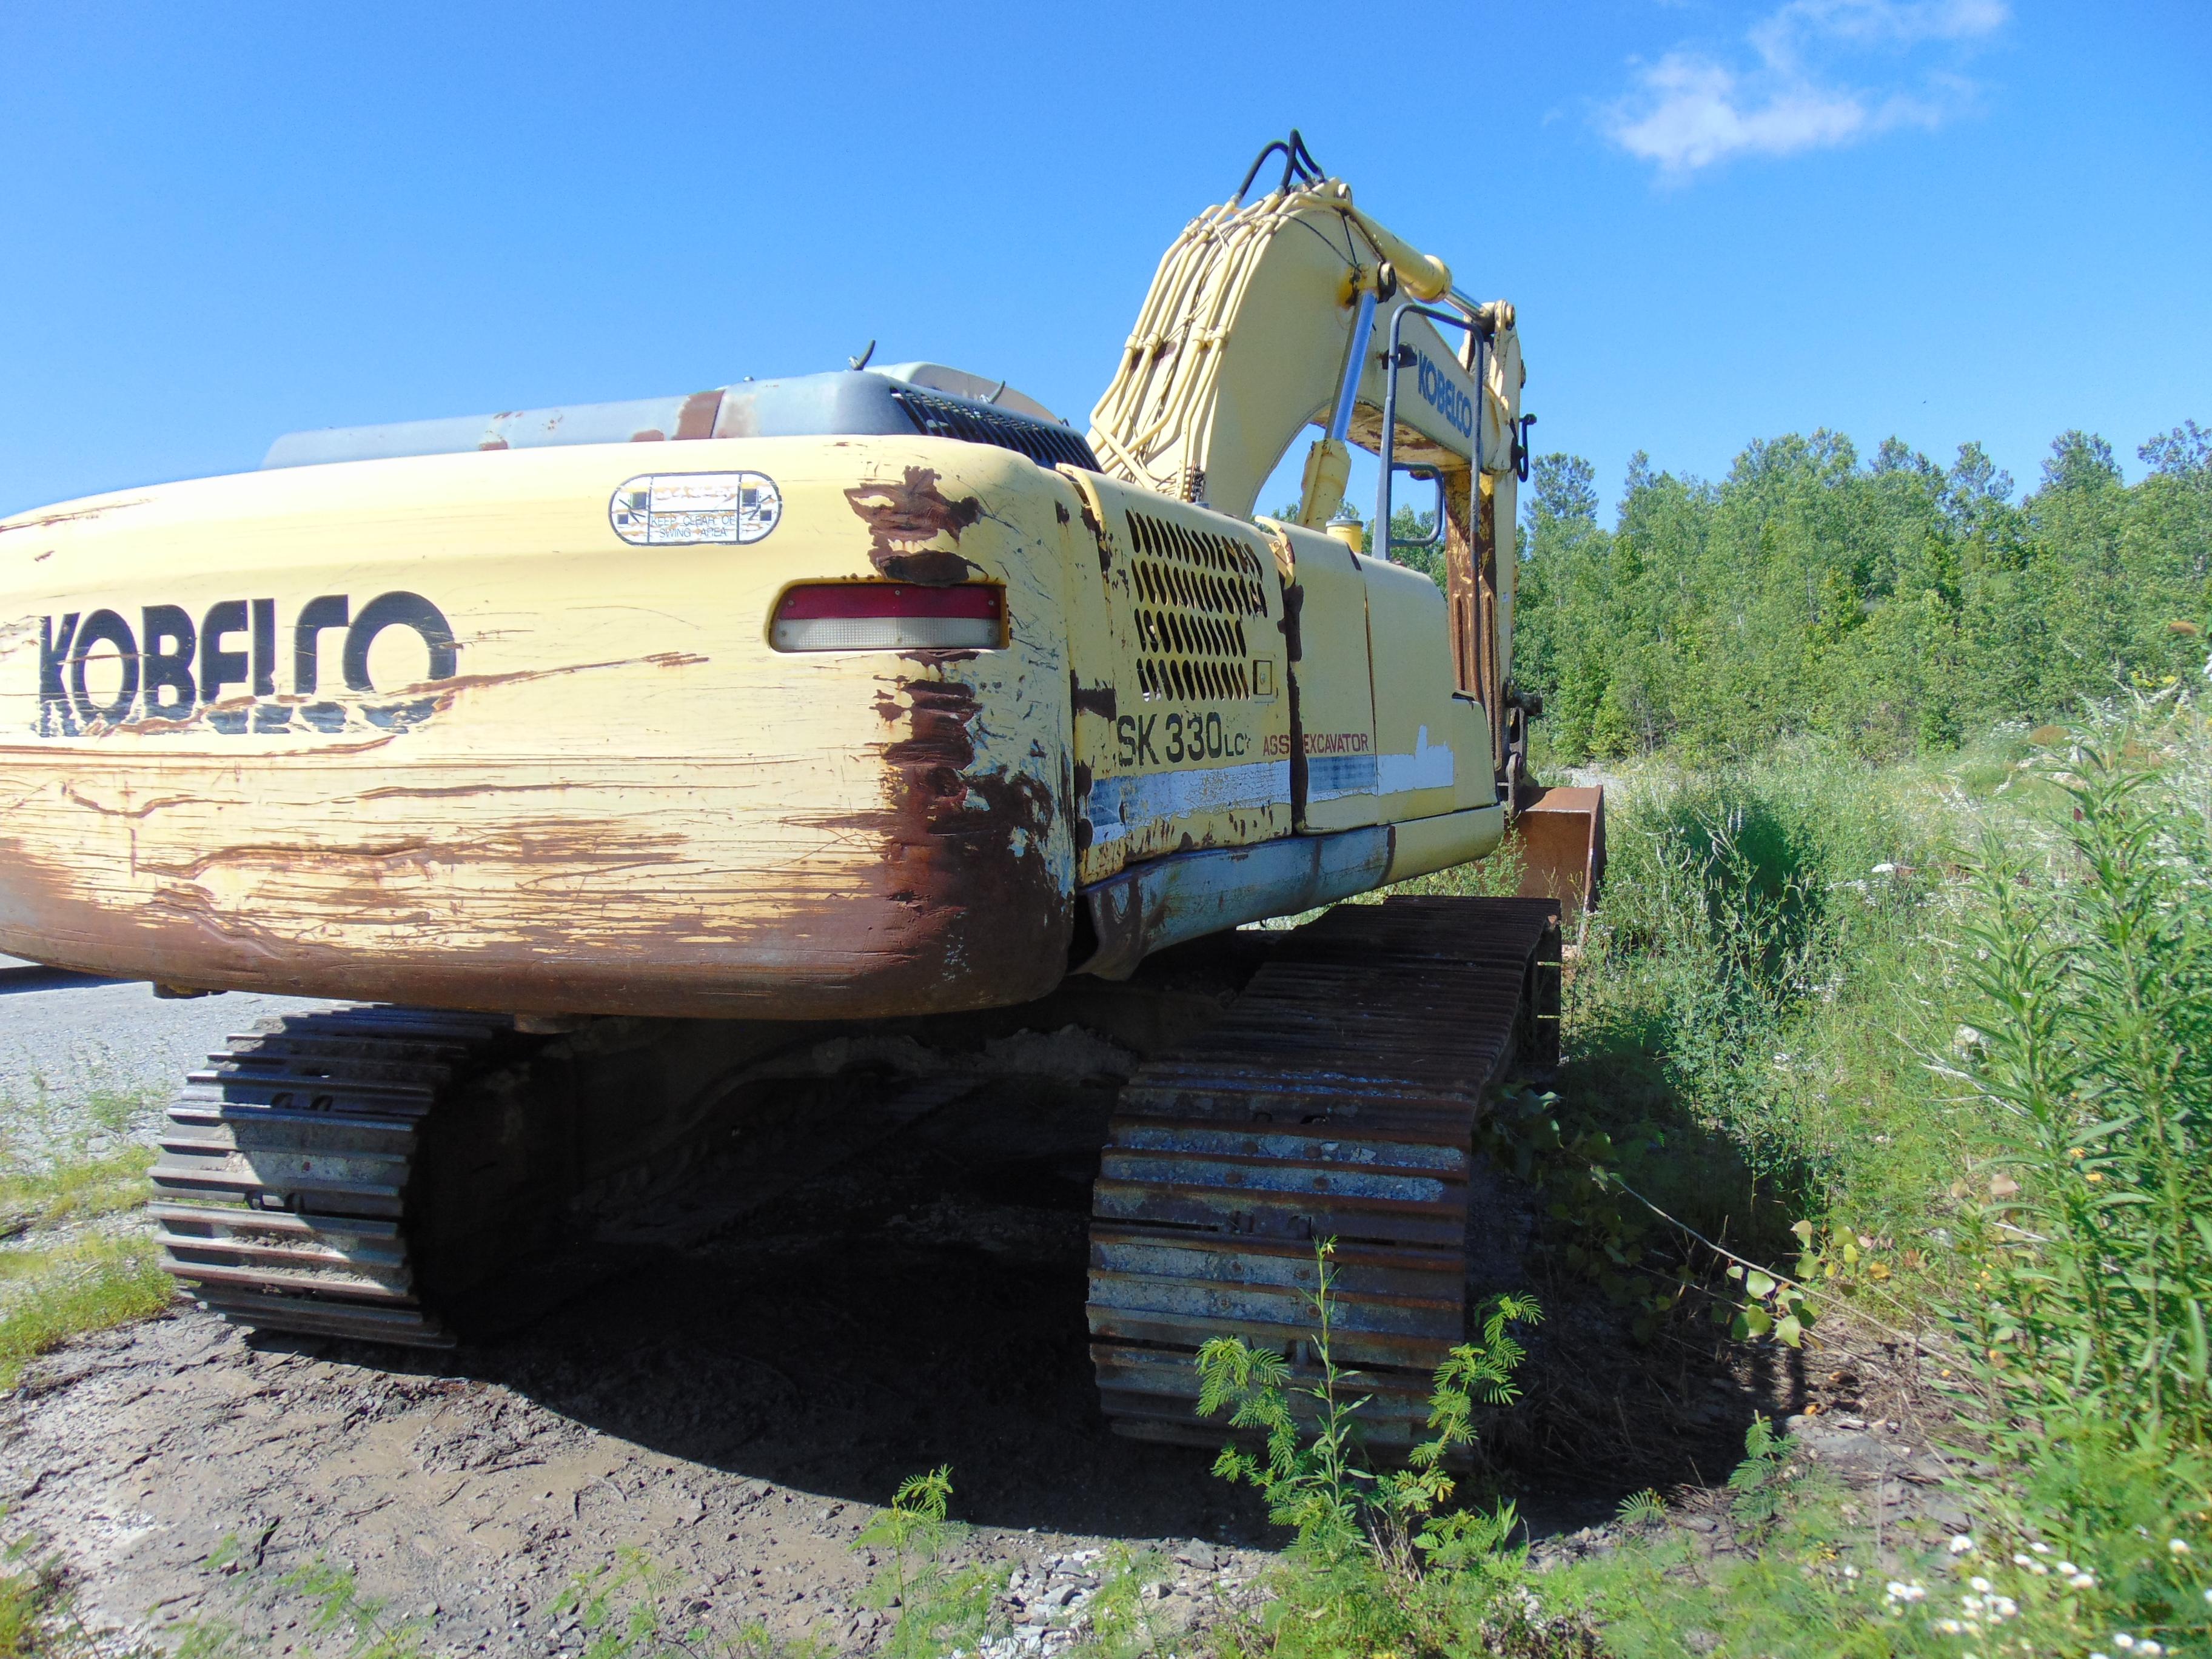
[[[1679,49],[1637,73],[1599,126],[1661,177],[1686,179],[1734,155],[1796,155],[1898,126],[1933,128],[1973,100],[1947,71],[1858,86],[1838,60],[1885,53],[1891,71],[1931,42],[1971,44],[2006,22],[2006,0],[1787,0],[1745,33],[1754,64]]]

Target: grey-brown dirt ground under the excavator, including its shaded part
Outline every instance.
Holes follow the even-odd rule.
[[[270,1586],[316,1557],[434,1619],[434,1650],[575,1650],[557,1595],[617,1548],[717,1628],[865,1650],[872,1562],[849,1542],[938,1464],[967,1553],[1024,1575],[1004,1608],[1031,1630],[1079,1608],[1113,1542],[1161,1553],[1177,1617],[1250,1582],[1279,1542],[1250,1495],[1208,1451],[1119,1440],[1097,1413],[1086,1219],[1113,1079],[821,1088],[799,1133],[549,1263],[504,1336],[276,1340],[179,1305],[49,1356],[0,1402],[9,1526],[64,1553],[95,1624],[173,1639],[223,1619],[270,1652],[305,1650],[310,1608]],[[1621,1365],[1604,1310],[1546,1292],[1526,1194],[1498,1181],[1482,1208],[1491,1270],[1557,1296],[1491,1471],[1551,1557],[1601,1548],[1626,1491],[1723,1480],[1752,1411],[1818,1402],[1818,1376],[1719,1345]],[[1854,1422],[1885,1478],[1913,1453]],[[226,1540],[237,1559],[210,1571]]]

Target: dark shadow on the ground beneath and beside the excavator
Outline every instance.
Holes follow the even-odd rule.
[[[785,1141],[803,1146],[810,1113],[852,1121],[869,1091],[896,1082],[823,1084]],[[958,1511],[987,1526],[1279,1542],[1212,1453],[1121,1440],[1099,1416],[1086,1221],[1110,1108],[1113,1084],[984,1082],[706,1241],[580,1252],[551,1307],[445,1365],[670,1458],[845,1502],[883,1504],[949,1464]],[[661,1203],[712,1208],[719,1179],[706,1168]],[[1533,1201],[1500,1181],[1484,1212],[1489,1259],[1520,1259],[1553,1310],[1484,1471],[1533,1533],[1604,1520],[1644,1486],[1721,1480],[1752,1413],[1790,1409],[1798,1378],[1736,1376],[1694,1332],[1628,1356],[1619,1314],[1540,1259]]]

